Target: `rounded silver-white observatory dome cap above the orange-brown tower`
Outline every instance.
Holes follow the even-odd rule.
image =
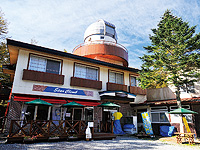
[[[117,33],[115,31],[115,25],[105,21],[98,20],[95,23],[92,23],[85,31],[84,41],[91,35],[106,35],[110,36],[117,41]]]

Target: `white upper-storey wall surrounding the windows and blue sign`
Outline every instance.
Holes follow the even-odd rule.
[[[47,56],[47,57],[52,57],[52,58],[57,58],[57,59],[62,59],[63,60],[63,65],[62,65],[62,75],[64,75],[64,84],[52,84],[52,83],[46,83],[46,82],[38,82],[38,81],[30,81],[30,80],[22,80],[23,76],[23,69],[27,69],[28,66],[28,61],[29,61],[29,55],[31,54],[37,54],[41,56]],[[20,49],[19,50],[19,55],[18,55],[18,61],[16,65],[16,71],[15,71],[15,77],[14,77],[14,82],[13,82],[13,93],[18,93],[18,94],[28,94],[28,95],[41,95],[41,96],[55,96],[55,97],[64,97],[64,98],[76,98],[76,99],[88,99],[88,100],[100,100],[99,96],[99,91],[106,91],[106,83],[108,82],[108,71],[109,70],[115,70],[122,72],[122,70],[119,69],[113,69],[110,67],[106,66],[95,66],[99,67],[100,69],[100,74],[99,74],[99,80],[102,81],[102,89],[101,90],[96,90],[96,89],[91,89],[91,88],[85,88],[85,87],[76,87],[76,86],[70,86],[70,80],[71,77],[73,76],[73,71],[74,71],[74,63],[81,63],[85,65],[91,65],[95,66],[95,64],[89,64],[86,62],[82,62],[79,60],[72,60],[70,58],[60,58],[60,57],[54,57],[54,56],[49,56],[47,54],[41,54],[38,52],[33,52],[33,51],[27,51]],[[128,86],[130,85],[129,82],[129,74],[131,72],[129,71],[124,71],[124,84]],[[50,87],[59,87],[59,88],[69,88],[69,89],[78,89],[78,90],[87,90],[87,91],[92,91],[93,96],[81,96],[81,95],[72,95],[72,94],[61,94],[61,93],[49,93],[49,92],[40,92],[40,91],[33,91],[33,85],[41,85],[41,86],[50,86]],[[146,97],[138,95],[136,97],[137,102],[142,102],[145,101]]]

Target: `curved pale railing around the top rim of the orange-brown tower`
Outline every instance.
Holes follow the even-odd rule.
[[[92,45],[92,44],[106,44],[106,45],[113,45],[113,46],[117,46],[117,47],[120,47],[122,48],[124,51],[126,51],[128,53],[128,50],[121,44],[118,44],[118,43],[115,43],[115,42],[111,42],[111,41],[102,41],[102,40],[96,40],[96,41],[89,41],[89,42],[85,42],[85,43],[81,43],[79,45],[77,45],[72,53],[74,53],[75,50],[77,50],[78,48],[80,47],[83,47],[85,45]]]

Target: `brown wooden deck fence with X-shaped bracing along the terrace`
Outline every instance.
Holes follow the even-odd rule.
[[[31,120],[24,123],[23,120],[12,120],[9,137],[51,137],[84,135],[87,121],[83,120]],[[90,121],[94,122],[94,121]],[[94,129],[92,129],[92,134]]]

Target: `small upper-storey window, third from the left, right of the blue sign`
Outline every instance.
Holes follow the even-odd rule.
[[[117,84],[124,84],[124,74],[118,72],[109,72],[109,82],[117,83]]]

